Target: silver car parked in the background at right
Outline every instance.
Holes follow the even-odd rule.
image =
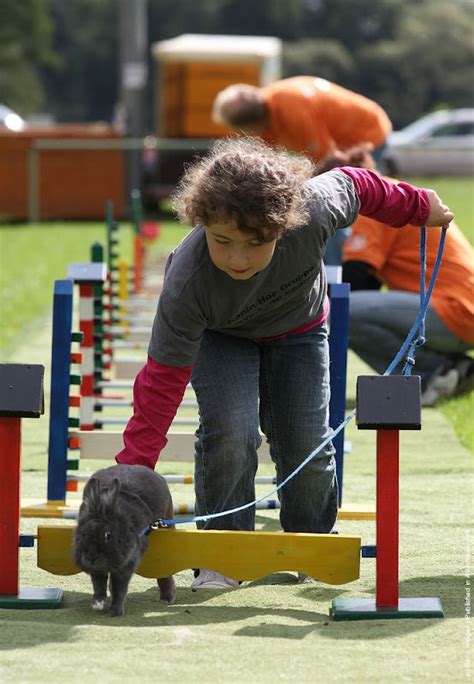
[[[474,175],[474,109],[433,112],[394,131],[382,168],[397,177]]]

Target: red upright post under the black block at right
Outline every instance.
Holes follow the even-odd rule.
[[[377,430],[377,607],[398,606],[399,431]]]

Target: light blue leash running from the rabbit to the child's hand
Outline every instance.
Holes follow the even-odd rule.
[[[433,288],[436,283],[436,278],[438,277],[438,271],[441,266],[441,259],[443,256],[443,250],[444,250],[444,244],[446,241],[446,230],[447,228],[443,227],[441,231],[441,238],[439,241],[439,246],[438,246],[438,253],[436,255],[436,262],[433,267],[433,273],[431,274],[430,282],[428,285],[428,289],[425,292],[425,278],[426,278],[426,227],[423,226],[421,228],[421,239],[420,239],[420,311],[418,313],[418,316],[416,317],[415,322],[413,323],[407,338],[403,345],[400,348],[400,351],[396,355],[396,357],[393,359],[392,363],[389,365],[387,370],[385,371],[384,375],[391,375],[394,371],[394,369],[398,366],[400,363],[401,359],[403,358],[405,352],[409,348],[409,352],[407,355],[406,363],[402,371],[402,375],[411,375],[411,371],[413,369],[413,366],[415,365],[415,351],[417,347],[421,347],[424,342],[425,342],[425,317],[426,317],[426,310],[428,308],[430,298],[431,298],[431,293],[433,292]],[[418,337],[414,340],[413,338],[415,337],[416,333],[419,332]],[[287,482],[289,482],[295,475],[297,475],[300,470],[302,470],[305,465],[307,465],[319,452],[321,449],[323,449],[328,442],[330,442],[341,430],[343,430],[346,425],[354,418],[356,414],[356,410],[353,409],[347,416],[346,418],[338,425],[338,427],[333,430],[331,435],[327,437],[314,451],[312,451],[309,456],[307,456],[300,465],[293,470],[292,473],[288,475],[283,482],[280,482],[280,484],[272,489],[270,492],[267,494],[264,494],[263,496],[258,497],[258,499],[255,499],[255,501],[251,501],[250,503],[244,504],[243,506],[238,506],[237,508],[232,508],[228,511],[221,511],[220,513],[210,513],[209,515],[195,515],[190,518],[180,518],[179,520],[165,520],[163,518],[159,519],[156,521],[156,523],[153,523],[153,525],[150,525],[149,527],[145,528],[139,536],[144,536],[145,534],[148,534],[152,529],[156,529],[157,527],[170,527],[173,525],[182,525],[184,523],[191,523],[191,522],[206,522],[207,520],[212,520],[213,518],[222,518],[225,515],[231,515],[232,513],[238,513],[240,511],[244,511],[246,508],[250,508],[251,506],[255,506],[257,503],[260,501],[263,501],[264,499],[268,499],[268,497],[272,496],[272,494],[275,494],[278,492],[282,487],[284,487]]]

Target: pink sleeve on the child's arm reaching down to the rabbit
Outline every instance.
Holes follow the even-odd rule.
[[[133,385],[133,416],[123,433],[125,448],[116,455],[117,463],[155,467],[191,371],[192,366],[164,366],[148,357]]]

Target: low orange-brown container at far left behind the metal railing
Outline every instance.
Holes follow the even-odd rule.
[[[13,132],[0,130],[0,218],[26,219],[34,141],[117,139],[106,124],[56,125]],[[122,150],[41,149],[37,154],[38,216],[43,219],[102,219],[108,200],[125,213],[125,153]]]

